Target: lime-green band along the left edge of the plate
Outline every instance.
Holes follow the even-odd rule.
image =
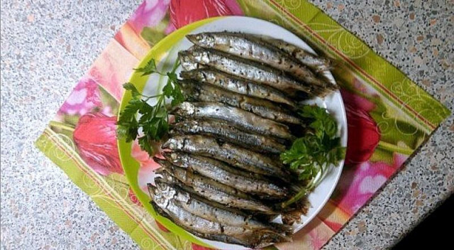
[[[172,48],[172,46],[178,43],[180,40],[182,40],[184,36],[186,36],[188,33],[190,33],[196,28],[199,28],[200,26],[205,25],[206,23],[211,23],[212,21],[215,21],[219,18],[222,17],[214,17],[197,21],[171,33],[169,36],[166,36],[165,38],[160,40],[159,43],[153,46],[150,52],[147,55],[145,55],[145,58],[143,58],[143,60],[137,67],[144,67],[147,64],[147,62],[152,58],[154,58],[156,62],[160,62],[160,60],[165,57],[165,55]],[[145,84],[148,81],[148,77],[150,77],[150,75],[142,76],[140,72],[133,72],[133,75],[131,76],[129,82],[131,82],[138,89],[139,92],[142,92],[143,88],[145,87]],[[119,114],[123,111],[123,109],[125,109],[126,105],[131,100],[131,98],[132,98],[131,92],[125,92],[123,94],[120,109],[118,110],[118,117]],[[121,166],[123,167],[126,178],[128,179],[128,182],[131,185],[131,189],[133,190],[134,194],[138,197],[138,200],[140,200],[143,207],[145,207],[145,209],[148,212],[150,212],[150,214],[157,220],[157,222],[160,222],[160,224],[164,225],[164,227],[169,229],[170,232],[177,234],[179,237],[182,237],[183,239],[187,239],[188,241],[194,242],[195,244],[199,244],[201,246],[206,247],[213,247],[210,246],[209,244],[204,243],[203,241],[200,241],[199,239],[196,239],[192,234],[189,234],[189,232],[187,232],[186,230],[177,226],[177,224],[170,221],[170,219],[162,217],[155,212],[153,207],[150,205],[150,197],[148,197],[147,194],[140,190],[140,187],[138,185],[138,170],[140,168],[140,164],[138,163],[138,161],[135,161],[135,159],[131,156],[132,142],[126,143],[126,141],[124,140],[117,139],[117,143]]]

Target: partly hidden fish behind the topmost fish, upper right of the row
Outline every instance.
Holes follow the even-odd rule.
[[[323,58],[318,55],[314,55],[296,45],[287,43],[284,40],[270,38],[267,36],[260,36],[260,39],[270,43],[270,45],[275,46],[279,50],[282,50],[289,55],[292,55],[294,58],[297,58],[303,65],[306,65],[314,72],[323,72],[326,70],[331,70],[332,65],[331,61],[328,58]]]

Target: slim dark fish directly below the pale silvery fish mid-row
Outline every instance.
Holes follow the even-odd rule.
[[[213,136],[223,141],[242,145],[248,145],[251,150],[258,152],[282,153],[287,148],[273,138],[260,134],[251,134],[236,129],[223,121],[211,119],[205,120],[184,120],[172,124],[169,131],[170,136],[175,134],[201,134]]]

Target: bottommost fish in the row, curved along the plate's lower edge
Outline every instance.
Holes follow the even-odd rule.
[[[181,203],[172,198],[175,196],[175,190],[166,187],[150,188],[150,195],[153,199],[150,203],[158,214],[204,239],[240,244],[250,248],[260,248],[270,243],[290,240],[289,237],[284,237],[267,228],[235,227],[199,217],[184,209]]]

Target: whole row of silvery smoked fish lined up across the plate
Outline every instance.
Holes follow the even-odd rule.
[[[287,207],[294,173],[279,160],[304,120],[297,102],[336,89],[321,73],[329,61],[282,40],[243,33],[188,35],[179,52],[186,102],[154,158],[155,211],[205,239],[251,248],[291,241],[307,209]],[[284,224],[270,222],[282,215]],[[287,222],[287,224],[285,224]]]

